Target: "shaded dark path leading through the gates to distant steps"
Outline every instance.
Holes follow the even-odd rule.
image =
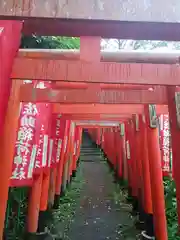
[[[138,232],[130,215],[131,208],[125,203],[115,203],[119,189],[100,150],[87,135],[83,136],[81,168],[85,184],[68,232],[69,239],[136,239]]]

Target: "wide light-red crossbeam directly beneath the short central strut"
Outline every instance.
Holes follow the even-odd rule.
[[[177,65],[89,63],[83,61],[16,59],[11,78],[48,81],[179,85]]]

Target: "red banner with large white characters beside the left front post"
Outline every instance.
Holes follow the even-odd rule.
[[[22,103],[20,105],[19,128],[15,143],[12,166],[11,186],[29,186],[32,184],[33,170],[37,146],[34,144],[36,105]]]

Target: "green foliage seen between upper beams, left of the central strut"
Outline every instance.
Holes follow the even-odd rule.
[[[79,49],[80,39],[73,37],[23,36],[21,48]]]

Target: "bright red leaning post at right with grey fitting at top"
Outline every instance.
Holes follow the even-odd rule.
[[[147,140],[155,236],[158,240],[167,240],[168,236],[161,169],[161,153],[159,147],[157,116],[154,105],[145,106],[145,116],[148,124]]]

